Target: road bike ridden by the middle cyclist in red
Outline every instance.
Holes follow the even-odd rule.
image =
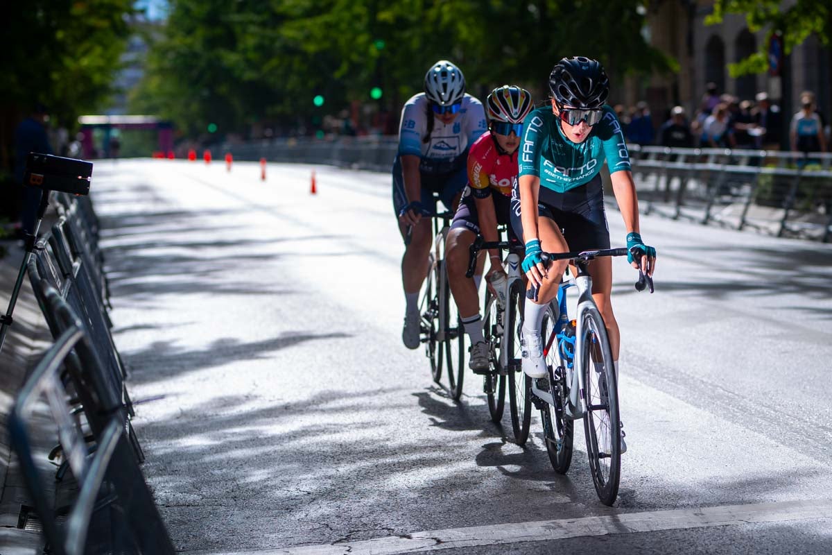
[[[527,394],[529,379],[522,372],[520,330],[522,326],[522,307],[524,304],[525,281],[522,279],[520,260],[523,245],[517,241],[485,241],[478,235],[470,247],[468,272],[473,275],[477,255],[483,249],[508,250],[503,260],[503,270],[508,276],[503,285],[503,299],[506,305],[498,302],[489,288],[486,288],[483,311],[483,336],[490,351],[490,364],[483,374],[483,390],[488,398],[488,411],[495,423],[503,419],[503,406],[508,381],[509,409],[512,419],[514,442],[523,445],[528,439],[532,420],[532,401]]]

